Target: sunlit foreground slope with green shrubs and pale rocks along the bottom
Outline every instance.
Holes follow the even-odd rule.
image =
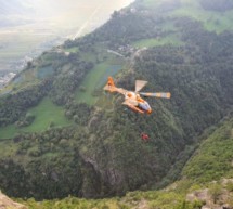
[[[181,180],[160,191],[132,192],[121,198],[78,199],[67,197],[63,200],[26,204],[31,209],[40,207],[70,209],[82,208],[232,208],[233,207],[233,119],[232,115],[209,130],[211,134],[199,144],[191,160],[182,171]],[[221,152],[222,149],[222,152]],[[212,156],[212,157],[211,157]],[[220,172],[221,173],[220,173]],[[217,174],[217,175],[216,175]]]

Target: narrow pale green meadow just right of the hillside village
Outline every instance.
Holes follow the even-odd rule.
[[[152,48],[152,47],[159,47],[159,45],[166,45],[166,44],[172,44],[172,45],[182,45],[182,41],[179,40],[178,37],[171,35],[164,38],[156,38],[156,39],[142,39],[140,41],[137,41],[133,43],[133,47],[137,48]]]

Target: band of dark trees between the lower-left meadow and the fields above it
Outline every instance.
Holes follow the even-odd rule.
[[[73,92],[80,86],[85,75],[93,68],[93,63],[81,61],[76,53],[65,55],[63,53],[48,52],[38,58],[38,67],[51,65],[54,74],[41,78],[39,82],[26,86],[15,92],[1,96],[0,100],[0,126],[7,126],[16,121],[18,127],[28,126],[33,118],[25,116],[26,109],[38,105],[46,95],[59,105],[65,105],[73,100]],[[70,68],[63,67],[69,64]],[[33,65],[33,64],[31,64]],[[26,68],[26,70],[34,70]],[[20,77],[20,76],[17,76]]]

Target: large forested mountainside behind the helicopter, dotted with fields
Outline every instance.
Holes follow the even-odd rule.
[[[154,11],[151,3],[138,1],[114,13],[94,32],[28,63],[12,81],[11,93],[0,100],[0,131],[15,131],[0,141],[0,186],[7,194],[105,197],[163,187],[179,177],[200,134],[232,110],[233,32],[208,31],[183,15],[171,18],[184,4]],[[178,44],[133,47],[164,38]],[[120,67],[114,73],[100,71],[115,65]],[[135,114],[121,105],[122,97],[102,93],[109,75],[119,87],[133,90],[134,80],[144,79],[145,91],[170,91],[172,97],[147,99],[154,113]],[[87,96],[80,101],[81,93]],[[60,127],[51,120],[34,132],[39,116],[30,108],[41,109],[44,100],[60,105],[69,122]]]

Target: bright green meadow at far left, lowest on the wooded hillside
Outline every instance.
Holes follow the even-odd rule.
[[[40,104],[30,108],[28,113],[36,116],[34,122],[28,127],[17,128],[15,125],[0,128],[0,139],[13,138],[21,132],[39,132],[49,128],[53,122],[54,127],[68,126],[73,122],[64,116],[63,107],[54,105],[49,97],[43,99]]]

